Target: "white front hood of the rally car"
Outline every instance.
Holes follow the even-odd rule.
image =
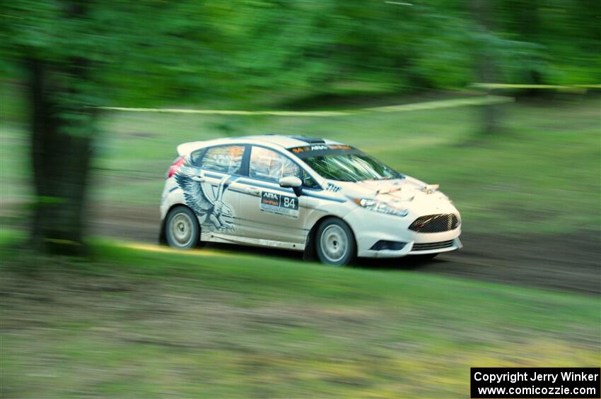
[[[438,185],[426,184],[413,177],[390,180],[327,181],[327,190],[349,198],[368,198],[393,203],[414,213],[457,213],[448,196]]]

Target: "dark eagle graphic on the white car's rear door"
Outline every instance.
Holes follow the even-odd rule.
[[[205,181],[203,174],[193,173],[193,169],[182,167],[175,174],[175,181],[184,191],[187,205],[199,216],[200,225],[209,232],[231,232],[234,230],[233,209],[223,202],[223,193],[228,188],[224,176],[218,185]]]

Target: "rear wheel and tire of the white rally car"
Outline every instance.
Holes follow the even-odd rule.
[[[167,244],[178,249],[197,246],[200,239],[198,218],[187,206],[177,206],[169,211],[165,222]]]

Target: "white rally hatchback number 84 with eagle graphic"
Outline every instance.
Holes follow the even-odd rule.
[[[161,241],[305,251],[323,263],[433,257],[462,247],[461,218],[438,186],[356,148],[306,136],[184,143],[161,198]]]

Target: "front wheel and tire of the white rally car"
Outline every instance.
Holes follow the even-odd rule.
[[[351,227],[338,218],[324,220],[315,232],[315,252],[327,265],[344,266],[354,261],[357,246]]]

